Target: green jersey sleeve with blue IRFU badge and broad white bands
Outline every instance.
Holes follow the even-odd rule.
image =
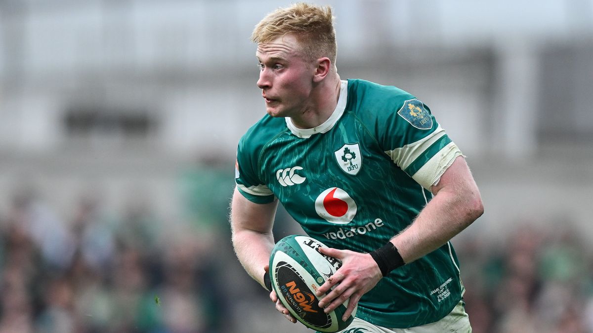
[[[386,118],[380,120],[385,124],[380,144],[398,167],[430,191],[463,153],[428,106],[413,96],[406,98],[403,103],[394,103],[395,110],[387,110]]]

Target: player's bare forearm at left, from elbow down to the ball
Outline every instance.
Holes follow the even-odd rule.
[[[262,280],[264,266],[268,264],[270,253],[274,248],[273,235],[253,230],[237,230],[233,232],[232,245],[247,273],[264,286]]]

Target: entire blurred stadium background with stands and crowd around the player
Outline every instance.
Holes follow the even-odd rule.
[[[593,332],[593,1],[318,3],[342,78],[412,92],[467,155],[474,332]],[[0,332],[308,331],[227,223],[249,37],[288,4],[0,0]]]

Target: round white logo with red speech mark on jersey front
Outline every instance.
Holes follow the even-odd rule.
[[[356,203],[342,188],[332,187],[315,199],[315,210],[327,222],[345,225],[356,215]]]

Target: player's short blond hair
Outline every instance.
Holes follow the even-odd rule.
[[[299,2],[291,7],[278,8],[256,25],[251,40],[265,44],[289,33],[295,34],[302,52],[310,60],[328,57],[332,64],[336,63],[336,30],[330,6]]]

